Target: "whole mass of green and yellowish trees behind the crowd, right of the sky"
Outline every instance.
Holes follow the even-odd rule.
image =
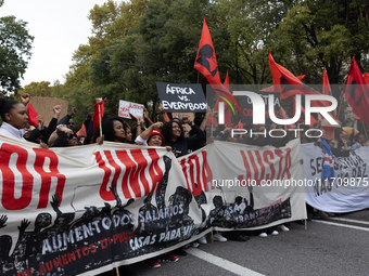
[[[204,17],[221,80],[229,69],[230,83],[271,83],[270,49],[277,63],[306,75],[305,83],[322,83],[325,65],[331,83],[343,83],[354,54],[369,69],[368,11],[359,0],[110,0],[91,10],[92,36],[75,52],[61,91],[80,121],[96,97],[107,98],[106,116],[126,100],[157,118],[155,82],[200,77],[207,84],[193,68]],[[333,93],[340,100],[342,92]]]

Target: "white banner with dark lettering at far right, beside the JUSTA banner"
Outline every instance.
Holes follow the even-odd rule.
[[[306,202],[333,213],[369,208],[369,147],[360,147],[349,157],[334,158],[335,179],[320,181],[325,156],[314,143],[303,144]]]

